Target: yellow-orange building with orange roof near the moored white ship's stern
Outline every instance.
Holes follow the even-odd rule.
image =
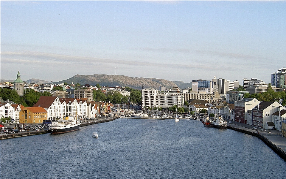
[[[20,123],[43,123],[43,120],[47,120],[47,112],[43,107],[21,107]]]

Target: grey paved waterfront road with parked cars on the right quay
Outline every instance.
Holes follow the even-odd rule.
[[[257,132],[261,134],[262,136],[266,137],[268,140],[270,140],[274,145],[276,145],[278,148],[280,148],[282,151],[286,152],[286,138],[282,137],[282,132],[278,130],[266,130],[266,132],[261,131],[262,128],[253,129],[254,126],[231,121],[232,123],[229,123],[228,126],[250,131],[250,132]]]

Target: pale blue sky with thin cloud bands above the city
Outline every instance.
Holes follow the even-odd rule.
[[[1,79],[270,83],[285,57],[286,1],[1,1]]]

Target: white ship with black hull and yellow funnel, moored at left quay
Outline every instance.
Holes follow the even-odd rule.
[[[66,115],[63,120],[53,121],[49,129],[51,129],[52,134],[62,134],[78,130],[81,123],[82,121],[77,120],[76,117]]]

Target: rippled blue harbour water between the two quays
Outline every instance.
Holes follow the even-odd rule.
[[[1,179],[285,178],[286,162],[258,138],[194,120],[119,118],[0,142]]]

